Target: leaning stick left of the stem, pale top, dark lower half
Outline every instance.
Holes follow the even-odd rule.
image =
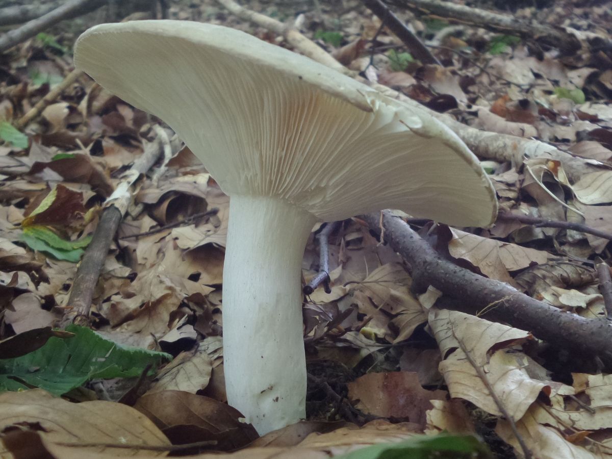
[[[106,207],[102,211],[102,217],[95,228],[91,243],[85,250],[83,259],[76,270],[75,280],[70,290],[68,305],[72,307],[72,313],[68,316],[74,315],[75,324],[89,325],[89,310],[95,285],[98,283],[100,271],[104,266],[108,249],[119,228],[119,223],[131,201],[132,185],[141,174],[151,169],[160,155],[162,155],[162,142],[157,137],[151,143],[146,144],[143,154],[136,159],[130,170],[124,173],[113,195],[106,200]],[[64,318],[64,322],[67,318]]]

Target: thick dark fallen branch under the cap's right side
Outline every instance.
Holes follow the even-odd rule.
[[[381,231],[381,214],[368,214],[363,218],[372,230]],[[612,367],[611,324],[564,312],[506,283],[450,263],[407,223],[387,211],[382,212],[382,226],[385,241],[411,264],[414,288],[424,291],[431,285],[454,299],[454,303],[460,302],[465,312],[475,314],[486,309],[491,318],[528,330],[561,348],[599,356]]]

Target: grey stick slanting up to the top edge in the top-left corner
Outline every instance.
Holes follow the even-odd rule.
[[[39,32],[53,26],[75,13],[84,14],[93,11],[105,3],[105,0],[70,0],[62,6],[48,12],[47,14],[31,20],[23,26],[14,29],[0,37],[0,52],[18,45],[19,43],[34,37]]]

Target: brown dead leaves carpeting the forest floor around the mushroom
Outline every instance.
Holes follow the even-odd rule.
[[[563,160],[498,157],[483,166],[504,211],[610,232],[608,64],[594,65],[598,57],[584,50],[563,56],[551,48],[538,55],[528,40],[513,35],[398,9],[444,63],[421,65],[359,2],[341,3],[343,8],[318,2],[302,9],[283,2],[248,7],[297,20],[307,37],[349,68],[465,124],[535,137],[582,164],[603,164],[577,173]],[[556,2],[515,13],[609,33],[604,8],[580,6],[568,18],[566,7],[575,6]],[[173,18],[239,27],[289,46],[216,2],[176,1],[168,11]],[[159,122],[83,76],[40,116],[15,127],[67,74],[76,34],[59,26],[13,48],[2,62],[0,387],[22,389],[0,394],[2,453],[31,445],[53,457],[154,457],[166,452],[138,445],[208,441],[181,452],[202,458],[209,456],[206,451],[237,449],[228,455],[373,458],[388,447],[355,454],[360,447],[392,442],[403,452],[424,452],[428,446],[414,446],[426,441],[420,434],[447,432],[459,449],[460,436],[470,435],[486,439],[498,457],[513,457],[523,453],[518,431],[537,457],[612,456],[612,381],[595,356],[438,307],[440,295],[433,289],[414,293],[411,261],[379,244],[359,218],[346,220],[330,237],[331,293],[319,286],[305,298],[304,338],[314,376],[308,420],[256,439],[241,414],[226,405],[223,384],[221,289],[229,200],[166,127],[173,158],[138,179],[103,260],[92,299],[96,333],[59,336],[50,327],[61,326],[70,310],[76,266],[102,205],[143,155],[149,128]],[[462,268],[568,313],[605,320],[594,259],[610,261],[609,239],[507,220],[490,230],[408,222]],[[318,246],[311,237],[305,282],[317,271]],[[106,343],[98,357],[102,368],[76,358],[104,349],[81,343],[81,333]],[[124,366],[113,362],[119,352],[127,352]],[[165,353],[174,360],[164,366]],[[136,356],[143,358],[135,362]],[[152,363],[162,366],[152,369]],[[125,380],[126,389],[116,393],[117,379],[111,378]],[[440,451],[444,437],[435,438]],[[119,443],[132,450],[112,446]],[[481,446],[476,441],[466,451],[488,457]]]

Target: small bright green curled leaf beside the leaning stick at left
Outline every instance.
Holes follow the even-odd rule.
[[[66,241],[47,226],[41,225],[26,226],[21,237],[32,250],[39,250],[72,263],[78,263],[84,253],[83,248],[91,242],[91,236],[82,237],[77,241]]]

